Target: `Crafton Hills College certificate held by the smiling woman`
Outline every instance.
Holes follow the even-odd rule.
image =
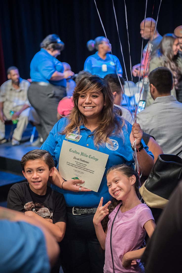
[[[65,180],[85,180],[81,186],[98,192],[108,156],[63,140],[59,156],[59,173]]]

